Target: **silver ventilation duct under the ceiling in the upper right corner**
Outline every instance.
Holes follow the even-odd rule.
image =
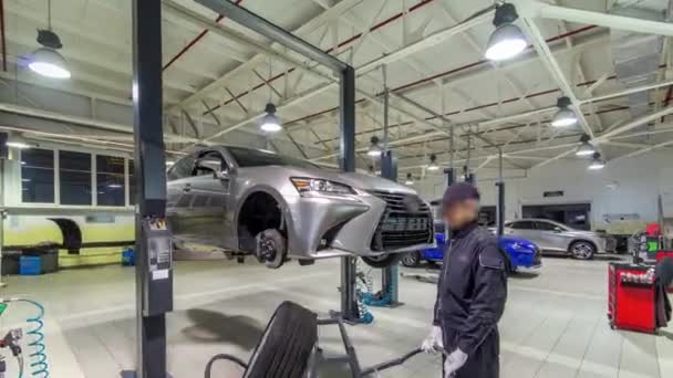
[[[652,21],[670,21],[670,2],[673,0],[617,1],[611,13]],[[662,61],[664,39],[661,35],[641,34],[617,29],[610,30],[612,60],[617,80],[625,88],[656,82]],[[630,94],[631,117],[650,112],[650,91]],[[640,130],[651,125],[639,126]]]

